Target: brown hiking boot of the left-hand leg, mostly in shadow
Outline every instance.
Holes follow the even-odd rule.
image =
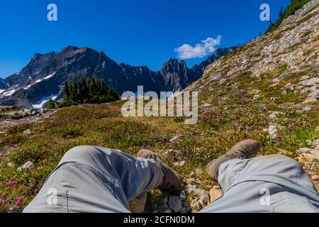
[[[162,184],[160,184],[157,188],[162,192],[170,192],[172,194],[179,195],[180,187],[184,184],[181,175],[169,168],[168,165],[161,160],[158,154],[150,150],[140,150],[137,157],[155,160],[156,165],[159,167],[159,170],[162,171],[163,175]]]

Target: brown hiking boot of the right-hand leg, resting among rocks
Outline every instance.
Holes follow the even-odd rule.
[[[213,160],[208,163],[206,166],[206,172],[209,177],[218,181],[218,169],[223,162],[232,159],[249,159],[256,157],[259,153],[259,144],[256,140],[242,140],[239,143],[236,143],[233,148],[231,148],[228,153],[218,157],[218,159]]]

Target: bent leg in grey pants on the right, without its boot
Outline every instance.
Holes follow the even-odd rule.
[[[201,212],[319,211],[319,196],[306,172],[283,155],[229,160],[219,167],[223,197]]]

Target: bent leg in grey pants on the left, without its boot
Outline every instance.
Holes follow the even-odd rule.
[[[129,212],[130,199],[161,183],[162,172],[152,160],[118,150],[79,146],[62,157],[24,211]],[[52,190],[57,192],[57,206],[50,200]]]

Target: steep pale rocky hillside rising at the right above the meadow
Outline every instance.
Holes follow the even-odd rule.
[[[199,91],[206,96],[201,100],[208,101],[208,96],[215,95],[208,92],[212,87],[227,87],[228,91],[231,91],[238,87],[240,80],[237,82],[236,79],[243,77],[251,79],[252,85],[254,80],[266,82],[272,79],[273,83],[270,85],[274,90],[281,87],[284,82],[296,82],[284,85],[289,87],[290,92],[305,94],[313,100],[318,99],[318,4],[318,0],[310,1],[294,15],[286,18],[272,33],[242,45],[209,65],[203,77],[186,90]],[[298,82],[298,79],[306,82]],[[308,88],[303,89],[305,86]],[[247,90],[250,89],[247,92],[252,92],[252,87],[254,86],[247,87]]]

